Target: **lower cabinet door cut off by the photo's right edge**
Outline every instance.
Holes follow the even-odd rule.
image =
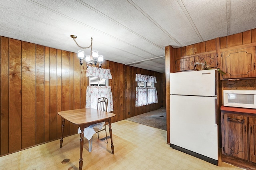
[[[250,160],[256,163],[256,118],[249,118]]]

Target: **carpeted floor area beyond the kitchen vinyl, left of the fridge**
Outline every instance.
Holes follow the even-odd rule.
[[[166,108],[162,107],[155,111],[150,111],[137,115],[134,117],[127,118],[128,121],[133,121],[143,125],[147,125],[154,128],[160,128],[162,130],[167,130],[166,127]]]

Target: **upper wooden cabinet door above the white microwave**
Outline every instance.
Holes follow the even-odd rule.
[[[224,79],[256,77],[255,47],[222,52]]]

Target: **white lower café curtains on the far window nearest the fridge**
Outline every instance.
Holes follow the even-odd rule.
[[[158,103],[156,87],[136,87],[135,107]]]

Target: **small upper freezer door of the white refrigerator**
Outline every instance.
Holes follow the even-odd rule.
[[[216,69],[170,73],[170,94],[216,96]]]

